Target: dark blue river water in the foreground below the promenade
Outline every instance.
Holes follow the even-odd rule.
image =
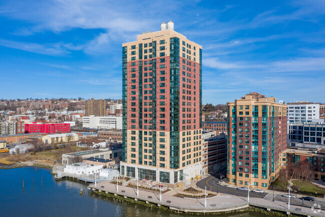
[[[49,169],[23,167],[0,169],[0,216],[114,216],[114,217],[174,217],[196,216],[152,208],[136,203],[117,203],[111,197],[87,193],[82,181],[55,181]],[[34,178],[34,183],[33,183]],[[41,181],[42,180],[42,181]],[[24,181],[24,187],[22,183]],[[257,212],[218,214],[226,217],[259,217]],[[210,215],[211,216],[211,215]]]

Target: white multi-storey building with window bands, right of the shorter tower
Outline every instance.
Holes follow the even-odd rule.
[[[297,101],[286,103],[288,106],[288,123],[315,122],[319,119],[319,104]]]

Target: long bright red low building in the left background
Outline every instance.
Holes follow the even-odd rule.
[[[25,133],[69,133],[70,124],[65,123],[31,123],[25,124]]]

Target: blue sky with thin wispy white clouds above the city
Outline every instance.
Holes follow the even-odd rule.
[[[121,98],[121,44],[162,22],[203,47],[203,103],[325,103],[325,1],[0,0],[0,98]]]

